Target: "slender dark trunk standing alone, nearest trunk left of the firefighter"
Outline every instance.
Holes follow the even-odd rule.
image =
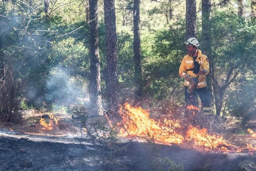
[[[141,74],[141,39],[140,39],[140,0],[134,0],[133,6],[133,51],[135,62],[135,86],[137,100],[142,96],[142,74]]]

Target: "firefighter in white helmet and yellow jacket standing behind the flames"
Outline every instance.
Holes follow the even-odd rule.
[[[209,74],[209,60],[198,49],[199,43],[196,38],[191,37],[185,43],[188,54],[183,57],[180,65],[179,75],[184,78],[185,101],[187,104],[195,101],[196,92],[201,99],[202,112],[211,115],[209,98],[207,95],[206,75]],[[187,92],[192,78],[198,78],[198,84],[194,93]],[[195,102],[194,102],[195,103]]]

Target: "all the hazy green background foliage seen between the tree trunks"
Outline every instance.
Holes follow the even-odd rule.
[[[4,42],[1,65],[8,63],[12,68],[17,99],[26,99],[26,103],[21,101],[20,105],[27,109],[29,106],[51,108],[52,105],[81,103],[76,98],[88,95],[90,77],[90,35],[85,1],[57,0],[51,4],[49,17],[44,13],[43,1],[30,2],[30,5],[29,1],[0,2],[0,36]],[[116,1],[116,5],[119,94],[121,101],[126,101],[130,92],[135,90],[132,1]],[[201,10],[199,6],[200,3],[198,9]],[[99,1],[98,9],[104,100],[107,75],[102,1]],[[143,94],[157,100],[181,103],[184,98],[183,79],[178,76],[178,68],[186,55],[183,46],[185,3],[143,1],[140,16]],[[255,116],[255,19],[239,17],[236,6],[229,4],[213,6],[210,19],[209,59],[214,73],[212,80],[224,94],[223,114],[252,118]],[[197,38],[203,43],[201,34],[199,12]],[[216,93],[216,97],[219,96]]]

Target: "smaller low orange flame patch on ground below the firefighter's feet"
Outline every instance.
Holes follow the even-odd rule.
[[[207,148],[220,148],[220,149],[226,149],[226,146],[228,145],[226,143],[226,140],[223,139],[222,136],[216,136],[209,135],[207,133],[207,129],[198,129],[196,127],[193,127],[190,125],[187,131],[187,137],[186,139],[190,141],[191,139],[194,139],[194,145],[199,147],[207,147]]]

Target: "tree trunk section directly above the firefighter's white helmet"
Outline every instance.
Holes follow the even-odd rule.
[[[196,37],[196,0],[186,0],[186,39]]]

